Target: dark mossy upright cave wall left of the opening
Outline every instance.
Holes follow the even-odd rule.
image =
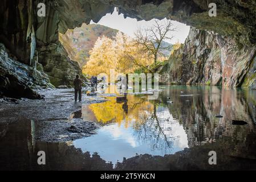
[[[45,3],[46,16],[36,15],[38,3]],[[0,42],[5,44],[13,60],[30,65],[31,39],[36,38],[34,65],[38,53],[38,68],[43,68],[55,86],[72,85],[76,74],[82,75],[78,63],[68,57],[59,42],[59,13],[55,1],[2,1]],[[42,67],[41,67],[42,65]]]

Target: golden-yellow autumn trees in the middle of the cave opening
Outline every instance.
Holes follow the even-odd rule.
[[[118,73],[130,73],[140,67],[147,69],[147,65],[153,63],[153,57],[149,57],[142,47],[135,46],[134,41],[121,32],[117,32],[113,39],[105,36],[98,38],[83,72],[88,75],[109,75],[109,69],[115,69]]]

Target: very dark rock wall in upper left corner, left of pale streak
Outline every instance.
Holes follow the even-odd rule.
[[[11,51],[22,63],[29,64],[32,14],[31,0],[0,2],[0,43]]]

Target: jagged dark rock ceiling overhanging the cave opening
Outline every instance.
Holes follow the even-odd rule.
[[[242,44],[256,43],[256,2],[253,0],[58,0],[59,31],[98,22],[115,7],[124,16],[137,20],[168,18],[202,30],[231,36]],[[209,3],[216,3],[217,16],[210,17]]]

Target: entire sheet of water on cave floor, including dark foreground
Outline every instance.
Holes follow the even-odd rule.
[[[129,94],[117,101],[108,94],[103,95],[108,96],[106,102],[82,104],[70,117],[101,127],[91,137],[70,142],[37,141],[30,119],[2,123],[1,169],[91,170],[116,164],[117,169],[256,169],[256,90],[178,85],[160,89],[155,100]],[[219,114],[223,117],[217,118]],[[247,124],[232,125],[233,120]],[[36,164],[39,150],[46,151],[45,166]],[[217,152],[216,166],[208,163],[212,150]]]

